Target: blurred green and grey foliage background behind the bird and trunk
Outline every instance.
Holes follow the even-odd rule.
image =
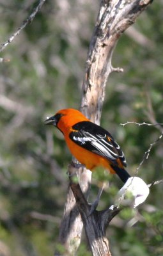
[[[0,0],[1,43],[19,28],[35,4],[33,0]],[[79,108],[98,4],[47,1],[1,52],[1,58],[10,62],[0,63],[0,255],[53,255],[58,243],[71,156],[62,134],[44,127],[43,120],[58,109]],[[113,64],[125,72],[111,74],[105,93],[102,126],[120,143],[132,175],[161,131],[120,123],[163,123],[162,7],[162,0],[154,1],[132,26],[132,34],[121,36]],[[146,40],[139,42],[134,31]],[[162,155],[160,140],[138,173],[147,183],[162,179]],[[121,187],[116,175],[108,177],[110,185],[99,209],[112,204]],[[98,184],[98,175],[93,181]],[[97,195],[95,184],[91,200]],[[114,256],[163,255],[162,196],[162,184],[153,186],[139,214],[126,209],[114,218],[107,234]],[[85,240],[79,255],[89,255]]]

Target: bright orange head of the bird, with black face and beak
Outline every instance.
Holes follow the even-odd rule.
[[[61,109],[54,116],[47,118],[45,124],[58,127],[61,132],[70,131],[74,124],[82,121],[89,121],[79,110],[73,108]]]

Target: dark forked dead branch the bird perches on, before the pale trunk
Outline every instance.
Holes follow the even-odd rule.
[[[79,210],[84,223],[84,229],[86,236],[88,237],[88,243],[93,255],[97,256],[111,256],[109,251],[109,242],[105,237],[105,230],[110,221],[121,211],[121,209],[114,207],[112,210],[107,208],[105,211],[93,211],[89,214],[91,205],[88,204],[84,197],[81,187],[78,182],[74,181],[74,175],[77,170],[70,164],[70,187],[74,193],[77,209]]]

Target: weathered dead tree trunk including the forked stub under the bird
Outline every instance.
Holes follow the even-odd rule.
[[[114,71],[123,71],[121,68],[113,68],[111,64],[118,38],[120,38],[121,33],[128,26],[135,22],[137,16],[151,2],[152,0],[102,0],[100,3],[100,10],[86,60],[81,99],[82,113],[96,124],[100,123],[105,96],[105,84],[109,74]],[[79,171],[77,172],[79,173]],[[84,191],[89,191],[90,172],[82,170],[78,176],[81,187],[84,187]],[[82,195],[79,184],[72,182],[72,180],[70,182],[75,198],[69,189],[59,241],[65,246],[68,253],[75,255],[81,241],[82,223],[84,223],[93,255],[111,255],[109,252],[109,242],[105,237],[105,228],[118,211],[116,209],[112,213],[109,209],[103,212],[95,211],[88,218],[89,205]],[[77,212],[75,200],[81,216]],[[75,241],[75,246],[72,246],[72,241]]]

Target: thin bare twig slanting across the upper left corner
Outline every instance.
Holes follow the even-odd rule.
[[[36,16],[36,13],[38,13],[38,11],[40,11],[40,9],[42,8],[42,5],[45,3],[46,0],[40,0],[38,3],[38,6],[36,6],[36,8],[33,9],[33,12],[31,13],[31,15],[29,15],[29,17],[24,20],[24,22],[22,23],[22,26],[20,26],[20,28],[17,29],[17,31],[15,31],[15,33],[13,33],[8,40],[6,40],[6,42],[4,42],[3,44],[1,44],[0,46],[0,52],[3,51],[6,46],[8,44],[10,44],[14,39],[15,36],[19,35],[20,31],[22,31],[22,29],[26,28],[27,24],[31,23],[33,21],[33,19]]]

